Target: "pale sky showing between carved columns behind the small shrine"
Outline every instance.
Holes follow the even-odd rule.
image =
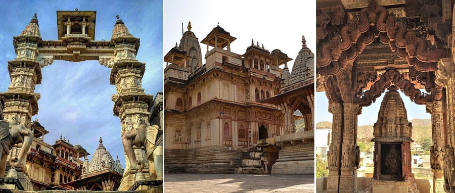
[[[414,102],[411,102],[411,99],[408,96],[405,96],[402,92],[400,93],[401,99],[404,103],[404,108],[407,112],[407,120],[411,121],[412,119],[431,119],[431,115],[425,110],[425,105],[417,105]],[[381,106],[382,99],[384,98],[384,93],[376,99],[376,103],[371,104],[368,107],[362,108],[362,113],[358,116],[357,125],[373,125],[378,120],[379,108]],[[330,121],[332,122],[332,113],[329,112],[329,101],[327,99],[325,92],[316,92],[316,123],[321,121]]]

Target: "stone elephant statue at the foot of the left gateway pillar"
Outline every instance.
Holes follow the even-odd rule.
[[[33,132],[17,123],[9,124],[6,121],[0,121],[0,177],[4,177],[7,164],[8,154],[14,144],[22,143],[18,157],[10,160],[12,168],[19,167],[22,164],[33,140]]]

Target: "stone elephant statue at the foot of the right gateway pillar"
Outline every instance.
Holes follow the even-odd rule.
[[[122,135],[123,149],[126,152],[131,168],[140,170],[143,163],[136,161],[134,148],[145,148],[147,159],[154,163],[156,170],[156,180],[163,180],[163,131],[158,125],[147,126],[139,125],[138,128],[131,129]]]

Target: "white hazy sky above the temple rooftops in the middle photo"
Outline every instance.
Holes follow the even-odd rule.
[[[270,52],[279,49],[295,59],[302,48],[302,35],[309,49],[315,50],[315,6],[315,1],[165,1],[163,55],[180,42],[181,23],[187,31],[191,21],[191,31],[199,42],[219,22],[220,27],[237,37],[231,44],[234,53],[244,54],[254,39],[255,44],[259,41]],[[201,51],[205,58],[205,44],[201,43]],[[205,64],[204,59],[202,62]],[[293,64],[294,61],[288,63],[290,70]]]

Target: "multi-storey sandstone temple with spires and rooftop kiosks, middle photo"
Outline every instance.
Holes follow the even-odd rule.
[[[201,41],[203,64],[191,29],[164,56],[165,172],[312,174],[314,55],[305,38],[290,73],[287,54],[257,41],[232,52],[237,38],[219,25]]]

